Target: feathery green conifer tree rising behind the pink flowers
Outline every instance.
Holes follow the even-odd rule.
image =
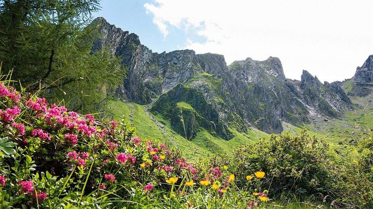
[[[107,49],[92,52],[88,26],[99,0],[0,1],[0,61],[12,78],[51,102],[80,112],[101,111],[123,79]],[[87,27],[88,26],[88,27]]]

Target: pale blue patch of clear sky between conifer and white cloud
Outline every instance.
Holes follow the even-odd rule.
[[[169,27],[169,34],[165,37],[153,23],[153,14],[148,13],[145,3],[152,0],[102,0],[101,10],[95,17],[104,17],[110,24],[140,37],[141,44],[153,52],[170,52],[186,45],[187,39],[203,42],[205,38],[198,36],[194,30]]]

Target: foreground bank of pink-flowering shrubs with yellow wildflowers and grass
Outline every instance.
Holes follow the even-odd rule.
[[[230,171],[189,163],[124,120],[78,115],[0,83],[1,208],[253,208],[268,200],[238,189]]]

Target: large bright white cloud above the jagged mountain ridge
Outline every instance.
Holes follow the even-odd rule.
[[[308,70],[343,80],[373,54],[371,0],[155,0],[144,7],[164,36],[177,27],[206,38],[182,48],[223,54],[228,64],[279,57],[289,78]]]

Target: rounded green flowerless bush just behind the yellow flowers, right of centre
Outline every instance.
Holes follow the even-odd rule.
[[[271,192],[310,195],[332,194],[335,182],[333,170],[337,156],[324,141],[311,137],[303,129],[300,135],[271,135],[256,144],[234,151],[233,172],[240,186],[247,184],[245,177],[257,170],[270,178],[261,182],[261,187]]]

